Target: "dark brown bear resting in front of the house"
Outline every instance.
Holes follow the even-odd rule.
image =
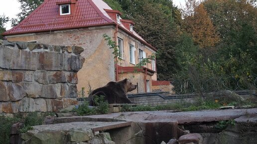
[[[94,96],[104,95],[105,100],[109,104],[114,103],[131,103],[128,99],[127,92],[136,89],[136,85],[132,84],[127,78],[114,82],[110,81],[105,86],[97,88],[88,96],[90,106],[94,106]]]

